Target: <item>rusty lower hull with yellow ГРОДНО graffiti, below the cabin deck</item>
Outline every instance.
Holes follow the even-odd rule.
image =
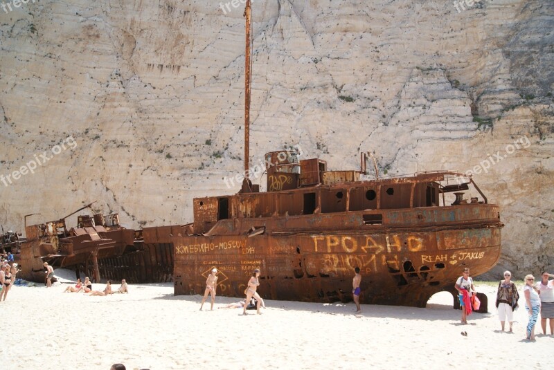
[[[453,293],[453,281],[460,276],[461,266],[470,267],[476,275],[494,266],[500,256],[499,234],[498,228],[485,228],[296,234],[256,240],[180,237],[175,240],[175,268],[179,271],[175,295],[203,294],[206,277],[217,267],[217,294],[243,297],[249,273],[260,268],[258,291],[264,298],[350,302],[353,271],[359,267],[363,277],[360,303],[425,307],[435,293]],[[479,240],[482,246],[445,248],[445,239],[464,237]],[[432,242],[418,244],[419,250],[413,252],[402,247],[413,238]]]

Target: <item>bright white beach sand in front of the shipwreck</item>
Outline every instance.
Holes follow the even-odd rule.
[[[14,286],[0,302],[12,343],[0,346],[4,370],[109,370],[116,362],[152,370],[546,369],[553,359],[554,336],[524,340],[522,301],[509,334],[499,332],[494,304],[461,326],[449,293],[427,308],[362,305],[361,315],[352,303],[265,300],[262,315],[242,316],[240,308],[217,309],[239,299],[217,297],[214,311],[208,302],[199,311],[202,297],[174,297],[172,284],[130,285],[128,295],[107,297],[65,287]],[[476,288],[494,302],[496,287]]]

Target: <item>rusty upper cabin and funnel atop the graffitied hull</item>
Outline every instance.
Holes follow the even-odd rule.
[[[265,155],[267,192],[260,192],[254,185],[252,192],[195,198],[194,234],[258,234],[259,228],[274,232],[314,230],[325,229],[330,223],[334,228],[359,229],[363,225],[386,225],[387,214],[402,218],[401,214],[388,212],[391,210],[487,203],[479,187],[465,174],[422,172],[360,180],[361,174],[366,174],[364,154],[360,162],[360,170],[328,171],[325,160],[319,158],[298,160],[296,151],[270,152]],[[472,194],[479,194],[481,200],[463,198],[470,185],[475,189]],[[445,198],[447,193],[454,193],[455,198]],[[420,214],[420,219],[423,216]]]

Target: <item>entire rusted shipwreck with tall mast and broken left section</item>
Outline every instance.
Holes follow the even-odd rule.
[[[195,198],[186,225],[121,228],[116,214],[26,226],[24,277],[44,279],[42,261],[84,266],[96,279],[174,281],[175,295],[204,293],[219,270],[217,293],[242,297],[259,268],[268,299],[346,302],[361,269],[360,302],[424,307],[454,290],[463,268],[479,275],[501,253],[499,206],[473,178],[438,171],[365,180],[359,170],[330,171],[298,151],[265,155],[267,191],[249,174],[251,1],[246,1],[244,182],[238,194]],[[469,195],[469,197],[468,197]],[[466,198],[464,198],[466,196]]]

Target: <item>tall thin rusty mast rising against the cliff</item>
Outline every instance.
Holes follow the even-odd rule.
[[[247,0],[243,16],[246,18],[246,52],[244,57],[244,180],[242,181],[241,192],[249,193],[252,191],[252,183],[249,176],[250,162],[250,84],[251,77],[251,20],[252,8],[251,0]]]

